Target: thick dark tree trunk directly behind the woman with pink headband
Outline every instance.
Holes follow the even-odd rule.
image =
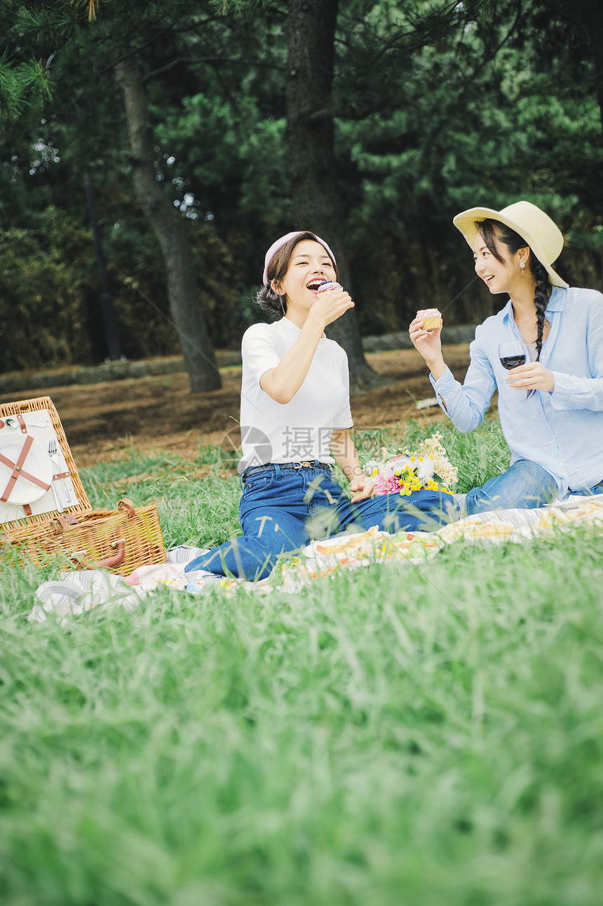
[[[329,243],[340,282],[353,298],[343,241],[343,210],[337,191],[334,124],[330,113],[334,38],[339,0],[289,0],[287,14],[287,142],[293,209],[298,229]],[[353,309],[327,328],[348,353],[350,384],[375,378],[362,352]]]

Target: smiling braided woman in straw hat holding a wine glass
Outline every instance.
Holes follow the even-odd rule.
[[[427,332],[415,319],[409,328],[456,428],[473,430],[498,390],[511,467],[467,494],[467,513],[602,493],[603,295],[570,288],[553,270],[563,236],[528,201],[472,207],[454,223],[473,248],[476,274],[492,294],[510,296],[477,327],[463,385],[445,365],[441,327]],[[499,350],[506,342],[515,344],[503,351],[511,357]],[[523,363],[512,367],[515,356]]]

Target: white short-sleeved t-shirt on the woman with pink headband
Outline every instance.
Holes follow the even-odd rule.
[[[288,403],[279,403],[260,387],[262,375],[276,368],[301,331],[282,318],[253,324],[243,337],[241,439],[239,472],[268,462],[316,459],[333,463],[333,429],[351,428],[348,356],[324,334],[302,386]]]

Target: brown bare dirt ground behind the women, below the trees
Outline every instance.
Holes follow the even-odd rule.
[[[425,362],[416,350],[369,353],[367,360],[379,380],[352,397],[356,428],[443,418],[439,407],[416,410],[416,400],[434,396]],[[469,346],[445,347],[445,360],[455,377],[462,380],[469,363]],[[382,383],[384,380],[388,382]],[[146,452],[169,450],[187,459],[196,459],[200,446],[208,444],[220,444],[225,453],[237,448],[241,370],[223,371],[222,385],[221,390],[211,393],[191,393],[187,374],[181,373],[29,390],[27,397],[49,396],[53,400],[72,455],[79,467],[86,467],[124,458],[132,447]],[[14,400],[14,395],[0,396],[0,402]]]

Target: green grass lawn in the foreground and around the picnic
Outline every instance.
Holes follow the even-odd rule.
[[[495,423],[452,441],[467,470],[505,464]],[[158,501],[168,543],[205,543],[238,492],[198,465],[82,477],[94,506],[125,488]],[[292,596],[167,589],[66,625],[25,621],[46,573],[6,562],[1,901],[595,906],[602,546],[457,544]]]

